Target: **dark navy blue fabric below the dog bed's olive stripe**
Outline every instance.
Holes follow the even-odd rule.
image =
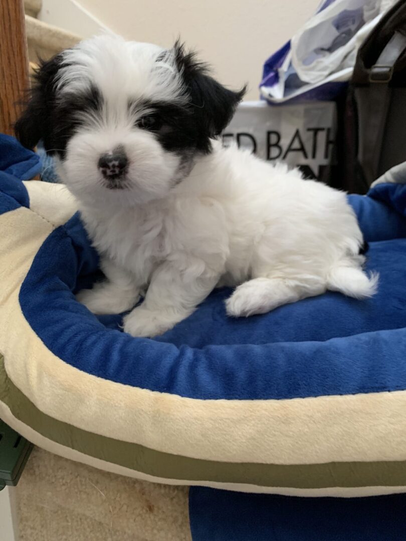
[[[191,487],[193,541],[404,541],[406,494],[299,498]]]

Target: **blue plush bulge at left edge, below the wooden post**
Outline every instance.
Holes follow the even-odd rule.
[[[0,171],[31,180],[41,171],[40,156],[24,148],[15,137],[0,134]]]

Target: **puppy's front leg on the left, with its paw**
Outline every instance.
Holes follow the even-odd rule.
[[[120,314],[133,308],[140,298],[132,274],[103,259],[101,269],[107,280],[96,283],[93,289],[82,289],[76,300],[94,314]]]

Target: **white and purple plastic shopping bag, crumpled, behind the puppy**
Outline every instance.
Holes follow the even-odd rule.
[[[332,100],[350,79],[359,46],[395,0],[325,0],[264,65],[261,96],[271,103]]]

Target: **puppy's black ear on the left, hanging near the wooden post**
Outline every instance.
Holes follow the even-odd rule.
[[[55,77],[61,62],[61,54],[47,62],[41,61],[34,74],[23,113],[14,125],[16,137],[24,147],[32,149],[40,139],[50,138],[50,118],[55,103]]]

